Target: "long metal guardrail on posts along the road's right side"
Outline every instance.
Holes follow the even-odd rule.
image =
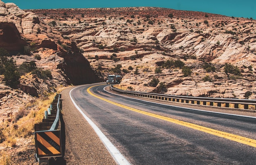
[[[154,98],[159,100],[167,100],[179,103],[189,103],[196,105],[209,105],[216,107],[236,108],[236,109],[250,109],[256,110],[256,100],[237,99],[237,98],[209,98],[209,97],[192,97],[192,96],[176,96],[166,94],[155,94],[140,91],[127,91],[110,86],[111,90],[129,94],[133,96]]]

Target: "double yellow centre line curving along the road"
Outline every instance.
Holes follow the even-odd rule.
[[[99,86],[99,85],[94,85],[92,87],[96,87],[96,86]],[[99,96],[97,96],[95,94],[92,94],[92,92],[90,91],[90,89],[92,87],[89,87],[87,89],[87,91],[88,91],[88,93],[90,95],[92,95],[92,96],[94,96],[96,98],[99,98],[101,100],[104,100],[104,101],[106,101],[108,103],[111,103],[113,105],[117,105],[119,107],[128,109],[130,111],[135,111],[135,112],[140,113],[140,114],[144,114],[144,115],[147,115],[147,116],[151,116],[151,117],[154,117],[154,118],[165,120],[165,121],[168,121],[168,122],[171,122],[171,123],[175,123],[175,124],[178,124],[178,125],[182,125],[182,126],[185,126],[185,127],[196,129],[196,130],[199,130],[199,131],[202,131],[202,132],[206,132],[208,134],[216,135],[216,136],[219,136],[219,137],[222,137],[222,138],[227,138],[229,140],[233,140],[233,141],[236,141],[238,143],[243,143],[243,144],[246,144],[246,145],[249,145],[249,146],[252,146],[252,147],[256,147],[256,140],[251,139],[251,138],[245,138],[243,136],[229,134],[227,132],[218,131],[216,129],[211,129],[211,128],[208,128],[208,127],[203,127],[203,126],[200,126],[200,125],[195,125],[195,124],[192,124],[192,123],[187,123],[187,122],[176,120],[176,119],[173,119],[173,118],[168,118],[168,117],[160,116],[160,115],[157,115],[157,114],[152,114],[152,113],[149,113],[149,112],[146,112],[146,111],[141,111],[139,109],[128,107],[126,105],[121,105],[119,103],[115,103],[115,102],[107,100],[105,98],[101,98],[101,97],[99,97]]]

